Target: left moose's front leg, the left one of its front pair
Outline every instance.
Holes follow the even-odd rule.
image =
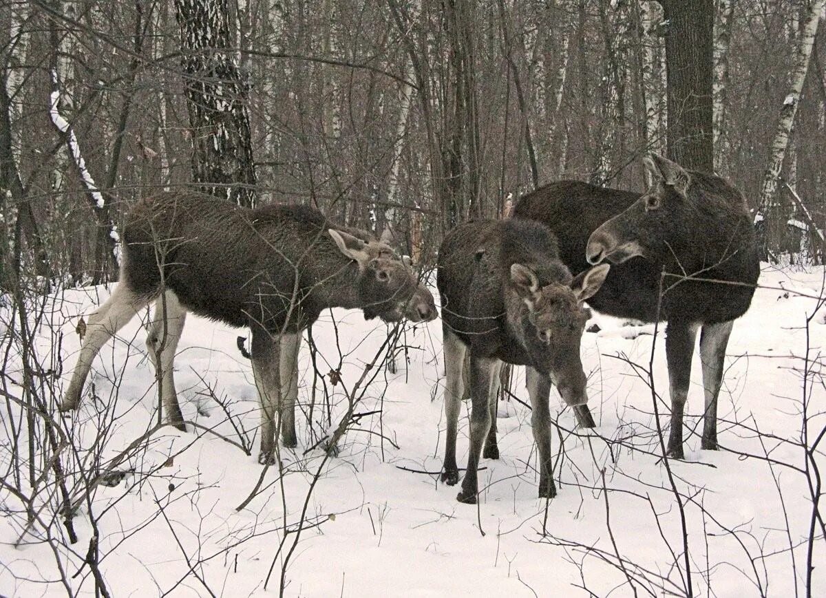
[[[278,342],[266,330],[253,330],[252,364],[261,403],[261,452],[259,463],[275,463],[276,415],[280,402]]]

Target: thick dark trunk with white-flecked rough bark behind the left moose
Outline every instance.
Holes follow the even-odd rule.
[[[192,178],[240,206],[255,204],[248,84],[232,51],[229,0],[175,0],[192,129]]]

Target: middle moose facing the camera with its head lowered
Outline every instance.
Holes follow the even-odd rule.
[[[556,384],[580,424],[594,426],[579,354],[587,320],[582,301],[597,292],[609,269],[601,264],[573,278],[559,259],[553,233],[534,221],[472,221],[444,238],[436,284],[446,375],[441,479],[449,486],[458,482],[456,431],[466,353],[472,404],[468,469],[459,502],[477,501],[477,466],[486,437],[482,456],[499,457],[491,420],[496,416],[494,381],[503,363],[527,366],[531,424],[539,447],[539,496],[556,496],[549,393]]]

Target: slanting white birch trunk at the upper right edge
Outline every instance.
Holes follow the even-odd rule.
[[[786,158],[786,149],[789,147],[792,128],[795,124],[797,105],[800,102],[800,93],[806,74],[809,72],[809,59],[812,56],[814,37],[817,35],[820,17],[824,10],[824,0],[814,0],[806,8],[800,38],[795,49],[795,64],[791,72],[791,85],[786,99],[783,100],[780,116],[777,120],[777,131],[769,150],[768,166],[763,178],[760,192],[760,207],[755,215],[755,223],[763,221],[767,226],[766,248],[777,249],[781,242],[783,230],[786,227],[786,213],[781,203],[777,201],[777,187],[780,182],[783,161]]]

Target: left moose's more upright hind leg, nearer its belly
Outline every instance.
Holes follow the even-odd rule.
[[[166,318],[164,319],[164,315]],[[178,405],[178,393],[175,390],[174,366],[178,341],[183,335],[187,310],[178,301],[175,293],[167,291],[155,299],[155,309],[150,333],[146,337],[146,350],[155,368],[155,379],[161,385],[161,398],[169,424],[183,432],[183,414]],[[160,361],[158,360],[160,353]]]

